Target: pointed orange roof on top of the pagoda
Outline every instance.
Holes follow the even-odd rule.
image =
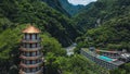
[[[22,33],[27,33],[27,34],[37,34],[41,33],[40,29],[36,28],[32,25],[29,25],[27,28],[25,28]]]

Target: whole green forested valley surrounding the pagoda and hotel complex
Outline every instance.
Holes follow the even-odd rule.
[[[90,47],[130,52],[129,0],[87,5],[67,0],[0,0],[0,74],[18,74],[22,30],[28,25],[41,30],[43,74],[130,73],[129,61],[107,70],[81,54],[81,48]]]

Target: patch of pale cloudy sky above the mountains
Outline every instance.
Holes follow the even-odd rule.
[[[77,4],[87,5],[88,3],[93,2],[93,1],[96,1],[96,0],[68,0],[68,2],[74,5],[77,5]]]

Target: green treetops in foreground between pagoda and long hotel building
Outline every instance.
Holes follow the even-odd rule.
[[[68,58],[48,54],[47,60],[49,62],[46,64],[50,66],[51,71],[47,72],[47,74],[108,74],[107,70],[98,66],[92,61],[79,54]]]

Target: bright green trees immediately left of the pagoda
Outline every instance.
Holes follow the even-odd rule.
[[[6,28],[0,34],[0,74],[17,74],[20,64],[21,30],[24,26]]]

